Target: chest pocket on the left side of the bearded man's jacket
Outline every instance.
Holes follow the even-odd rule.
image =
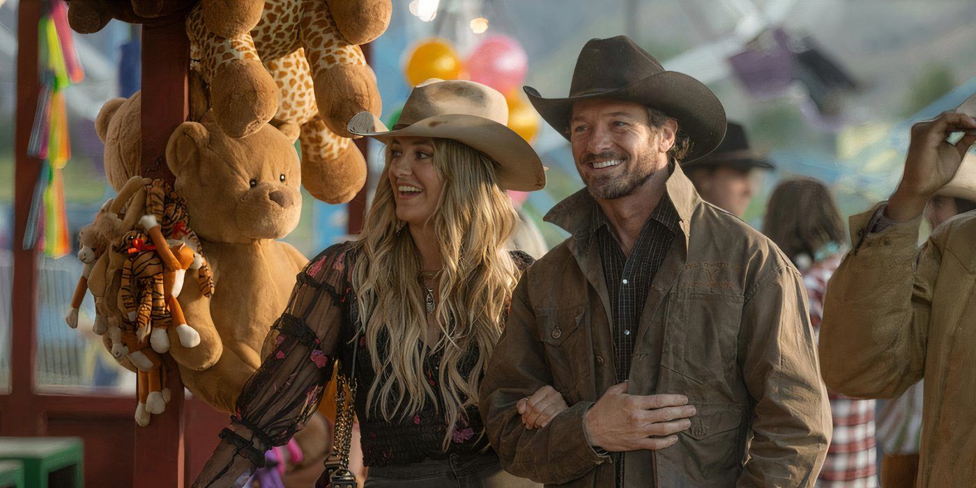
[[[539,334],[552,372],[553,387],[563,396],[586,377],[591,353],[583,327],[587,311],[583,305],[539,312]],[[575,393],[574,393],[575,394]],[[570,395],[572,396],[572,395]],[[567,403],[571,398],[567,396]]]

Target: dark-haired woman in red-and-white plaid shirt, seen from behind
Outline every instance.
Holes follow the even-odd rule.
[[[810,323],[818,331],[827,282],[843,258],[843,219],[831,189],[812,178],[779,183],[769,197],[762,231],[793,260],[806,284]],[[817,486],[877,486],[874,400],[829,391],[834,436]]]

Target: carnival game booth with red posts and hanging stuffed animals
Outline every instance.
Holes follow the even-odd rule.
[[[299,222],[300,182],[322,202],[347,202],[342,233],[358,231],[367,168],[346,122],[362,110],[380,114],[368,43],[390,10],[388,0],[20,1],[4,458],[28,457],[41,438],[59,437],[48,443],[74,453],[73,474],[54,485],[192,482],[305,265],[277,240]],[[73,39],[111,20],[141,26],[133,66],[141,90],[104,103],[94,120],[114,191],[71,235],[65,98],[84,77]],[[63,260],[82,265],[61,305],[63,327],[100,336],[131,371],[134,394],[37,387],[39,263],[73,254],[75,240],[77,258]],[[309,437],[327,438],[327,426],[310,426]],[[283,472],[328,448],[300,444],[269,452],[269,466]],[[310,469],[317,475],[320,461]],[[24,478],[7,463],[4,475]],[[25,475],[28,486],[46,485]]]

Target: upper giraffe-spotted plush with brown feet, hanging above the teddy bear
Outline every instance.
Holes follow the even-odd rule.
[[[333,17],[330,8],[342,16]],[[346,123],[362,110],[379,114],[380,93],[362,51],[337,21],[369,29],[356,36],[368,41],[386,30],[391,10],[389,0],[266,0],[249,34],[224,38],[207,27],[203,6],[194,7],[186,18],[190,59],[199,60],[194,68],[210,85],[218,124],[239,138],[268,122],[277,108],[278,87],[258,67],[304,49],[323,120],[336,134],[352,137]]]

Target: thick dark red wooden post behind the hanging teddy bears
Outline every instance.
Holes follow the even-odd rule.
[[[189,113],[189,40],[183,15],[172,22],[142,26],[142,176],[173,182],[166,165],[166,142]],[[173,358],[164,355],[172,392],[166,411],[136,428],[133,486],[183,487],[183,382]]]

